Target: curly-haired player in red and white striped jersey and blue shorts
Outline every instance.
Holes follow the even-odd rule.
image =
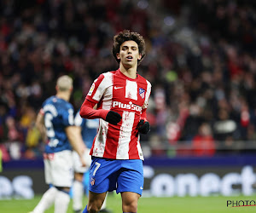
[[[137,73],[145,42],[125,30],[113,37],[113,57],[119,69],[102,73],[80,108],[82,118],[100,118],[90,149],[89,201],[86,212],[98,212],[108,191],[121,193],[123,212],[137,212],[143,193],[143,152],[140,133],[148,134],[146,119],[151,83]],[[97,108],[93,107],[97,104]]]

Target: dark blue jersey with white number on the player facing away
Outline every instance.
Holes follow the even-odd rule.
[[[56,96],[49,97],[43,103],[44,125],[49,143],[45,153],[58,153],[72,150],[65,129],[73,125],[73,106]]]

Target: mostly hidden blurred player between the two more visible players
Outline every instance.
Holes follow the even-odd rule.
[[[74,118],[74,124],[78,126],[79,133],[82,135],[85,146],[90,148],[99,127],[99,119],[84,119],[81,118],[79,112],[77,112]],[[90,150],[89,152],[84,152],[84,161],[88,166],[83,167],[81,165],[79,161],[79,155],[75,151],[73,151],[73,160],[75,179],[73,182],[73,210],[76,213],[80,213],[83,207],[82,199],[84,195],[84,187],[87,196],[89,195],[89,169],[91,162]],[[106,208],[106,202],[107,199],[104,200],[100,212],[111,212]]]

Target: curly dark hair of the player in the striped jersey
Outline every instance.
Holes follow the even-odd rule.
[[[122,45],[122,43],[126,41],[134,41],[137,43],[139,54],[142,55],[142,59],[137,61],[137,65],[140,65],[146,55],[146,44],[144,38],[137,32],[130,32],[129,30],[124,30],[113,37],[113,57],[118,63],[120,62],[116,55],[120,52],[120,46]]]

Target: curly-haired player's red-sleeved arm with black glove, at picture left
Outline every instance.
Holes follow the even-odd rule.
[[[119,115],[118,112],[104,109],[94,109],[95,105],[96,102],[85,99],[84,103],[80,108],[80,116],[87,119],[102,118],[113,125],[118,124],[121,120],[122,117]]]

